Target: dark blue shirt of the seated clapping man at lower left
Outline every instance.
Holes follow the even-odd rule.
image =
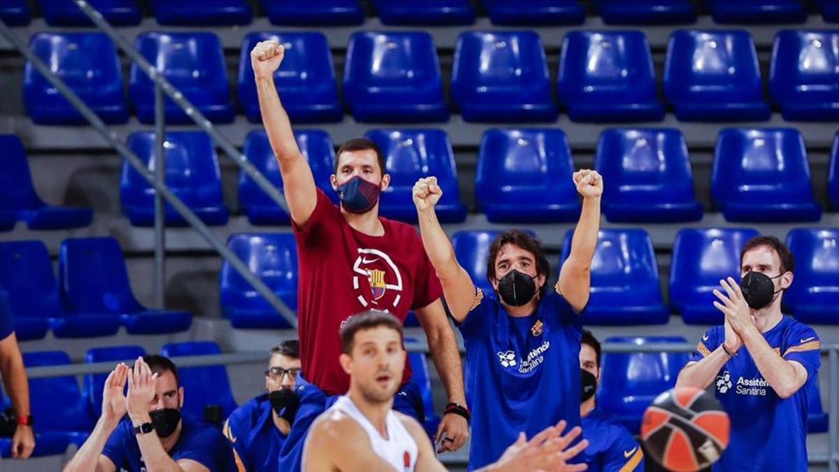
[[[183,417],[181,423],[180,438],[175,443],[175,447],[169,451],[169,456],[173,460],[194,460],[210,469],[211,472],[236,471],[230,443],[227,443],[221,431],[190,417]],[[147,470],[141,458],[134,428],[128,418],[119,422],[117,428],[111,433],[111,437],[105,443],[105,448],[102,449],[102,454],[111,459],[111,462],[117,466],[117,470],[129,472]]]

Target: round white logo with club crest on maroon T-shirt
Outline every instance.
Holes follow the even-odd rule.
[[[402,299],[402,274],[388,254],[359,248],[352,265],[352,288],[362,307],[388,311]]]

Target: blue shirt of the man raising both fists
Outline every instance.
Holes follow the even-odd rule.
[[[559,293],[536,312],[512,317],[476,289],[459,326],[466,345],[466,402],[472,412],[468,469],[490,464],[524,431],[580,424],[581,316]]]

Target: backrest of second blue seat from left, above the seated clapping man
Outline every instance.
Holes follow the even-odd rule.
[[[133,313],[145,309],[131,291],[117,239],[74,238],[61,242],[61,297],[70,312]]]

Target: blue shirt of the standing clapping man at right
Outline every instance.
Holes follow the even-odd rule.
[[[725,341],[725,328],[709,329],[690,360],[711,354]],[[763,379],[748,349],[741,348],[717,374],[714,390],[731,418],[731,441],[714,470],[807,470],[807,388],[821,366],[813,328],[784,317],[763,338],[786,360],[807,370],[807,382],[782,399]]]

